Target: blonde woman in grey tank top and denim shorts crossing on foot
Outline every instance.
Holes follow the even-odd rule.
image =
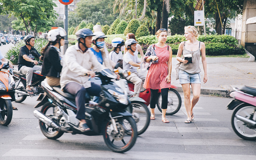
[[[204,69],[204,83],[207,82],[206,71],[206,57],[205,57],[205,45],[203,42],[197,40],[198,32],[194,26],[187,26],[185,29],[186,41],[181,42],[176,59],[181,62],[180,71],[178,77],[184,93],[184,105],[187,111],[188,118],[185,123],[191,123],[194,120],[193,108],[200,97],[201,91],[201,69],[199,67],[200,55],[202,56],[202,63]],[[181,58],[183,54],[183,58]],[[191,54],[192,63],[184,59],[185,55]],[[193,92],[193,98],[190,101],[190,85]]]

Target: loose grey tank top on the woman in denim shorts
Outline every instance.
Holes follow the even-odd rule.
[[[200,73],[201,72],[201,69],[199,67],[199,60],[200,60],[200,55],[201,55],[200,42],[199,42],[198,50],[196,50],[196,51],[188,51],[185,48],[185,43],[186,42],[184,42],[184,46],[182,49],[182,54],[183,54],[182,59],[184,59],[184,55],[192,54],[192,62],[193,63],[187,63],[187,64],[181,63],[179,68],[187,73],[190,73],[190,74]]]

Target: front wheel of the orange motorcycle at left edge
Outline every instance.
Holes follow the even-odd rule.
[[[12,101],[2,100],[0,108],[0,123],[4,126],[7,126],[11,123],[12,120]]]

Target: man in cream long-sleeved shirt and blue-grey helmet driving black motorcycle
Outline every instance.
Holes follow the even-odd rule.
[[[100,71],[104,66],[88,49],[92,45],[92,31],[87,28],[79,29],[76,36],[78,43],[68,47],[63,58],[60,86],[64,91],[75,95],[76,118],[80,120],[79,129],[86,132],[90,131],[90,128],[85,121],[84,104],[89,102],[90,95],[100,96],[101,91],[100,85],[89,81],[89,75],[95,77],[94,71]]]

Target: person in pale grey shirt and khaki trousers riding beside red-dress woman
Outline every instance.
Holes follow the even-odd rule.
[[[124,70],[130,71],[131,75],[126,77],[126,79],[134,84],[134,97],[140,96],[140,88],[146,78],[146,76],[139,74],[137,72],[137,67],[140,67],[140,59],[134,52],[136,51],[136,44],[138,42],[134,39],[128,39],[125,41],[126,54],[123,59]]]

